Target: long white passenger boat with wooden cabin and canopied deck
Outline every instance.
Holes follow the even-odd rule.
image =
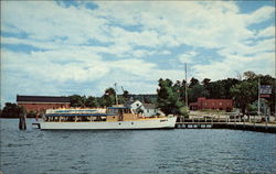
[[[42,130],[108,130],[108,129],[167,129],[174,128],[177,117],[145,118],[126,107],[98,109],[46,110]]]

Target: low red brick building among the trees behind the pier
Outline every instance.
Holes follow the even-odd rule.
[[[199,97],[197,102],[191,102],[189,105],[190,110],[226,110],[231,111],[233,109],[232,99],[206,99],[205,97]]]

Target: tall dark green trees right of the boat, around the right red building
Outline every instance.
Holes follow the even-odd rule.
[[[272,94],[265,98],[266,105],[275,112],[275,78],[269,75],[256,75],[254,72],[245,72],[241,78],[227,78],[212,81],[204,78],[199,81],[191,78],[188,84],[184,79],[173,83],[170,79],[160,78],[157,89],[158,107],[167,115],[187,115],[185,87],[188,90],[188,102],[195,102],[199,97],[210,99],[233,99],[234,106],[245,111],[256,111],[253,105],[258,99],[258,80],[262,85],[270,85]]]

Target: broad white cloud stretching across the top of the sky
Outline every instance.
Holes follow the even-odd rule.
[[[181,44],[220,48],[253,37],[254,32],[247,26],[270,19],[275,11],[263,7],[252,14],[240,14],[234,2],[96,3],[98,8],[89,10],[85,4],[63,8],[43,2],[44,6],[32,11],[38,3],[7,2],[3,31],[13,23],[18,31],[28,33],[31,40],[28,42],[43,41],[44,45],[56,44],[55,47],[88,44],[94,40],[130,48]],[[14,10],[19,4],[21,10]],[[32,17],[33,13],[40,15]]]

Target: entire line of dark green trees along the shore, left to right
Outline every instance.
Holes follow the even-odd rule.
[[[166,115],[188,115],[185,107],[185,87],[188,91],[188,102],[195,102],[199,97],[210,99],[233,99],[236,108],[241,108],[244,113],[254,111],[257,108],[253,105],[258,99],[258,80],[262,85],[272,85],[273,93],[269,98],[265,98],[265,102],[275,112],[275,78],[269,75],[256,75],[254,72],[245,72],[241,78],[227,78],[212,81],[204,78],[200,81],[191,78],[189,83],[171,79],[158,80],[157,95],[136,96],[123,90],[121,95],[116,96],[116,90],[112,87],[104,91],[102,97],[72,95],[70,97],[71,107],[110,107],[116,104],[126,104],[130,99],[139,99],[144,102],[156,104]],[[18,116],[18,106],[7,102],[1,111],[1,117]],[[35,112],[29,112],[29,117],[35,117]]]

